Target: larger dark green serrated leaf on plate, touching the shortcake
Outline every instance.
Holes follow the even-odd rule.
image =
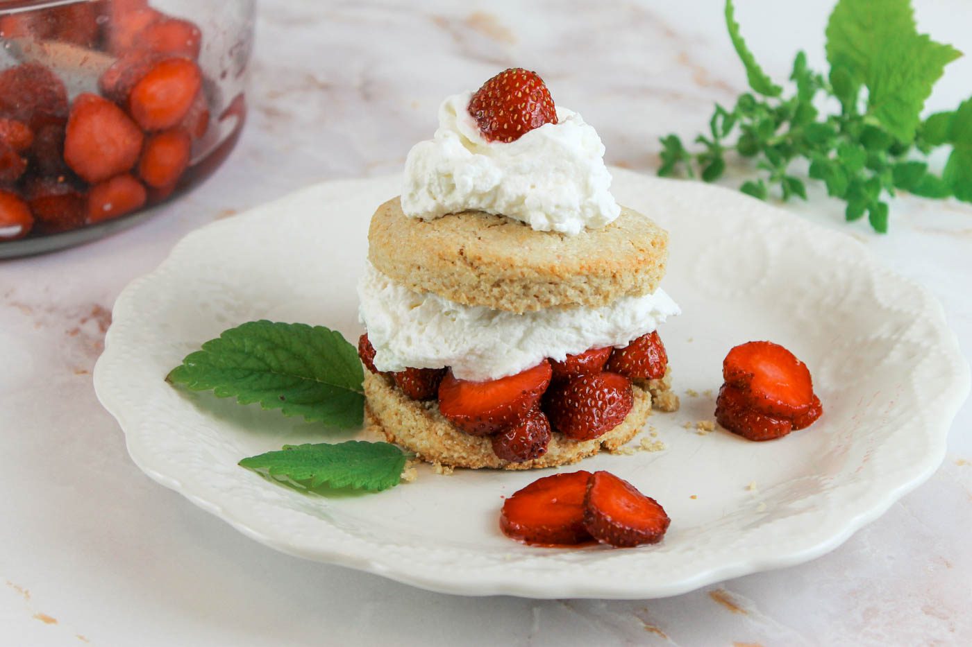
[[[358,352],[341,333],[321,325],[244,323],[203,344],[166,380],[330,426],[364,421]]]

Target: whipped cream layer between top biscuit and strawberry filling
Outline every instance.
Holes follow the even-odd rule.
[[[367,263],[359,315],[381,371],[451,366],[463,380],[495,380],[543,358],[627,346],[680,313],[662,289],[602,308],[549,308],[517,315],[467,306],[396,284]]]

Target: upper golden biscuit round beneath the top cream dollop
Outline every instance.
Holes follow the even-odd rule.
[[[422,221],[405,216],[395,197],[371,218],[368,258],[402,286],[466,305],[597,308],[658,288],[668,232],[625,207],[608,226],[575,236],[482,212]]]

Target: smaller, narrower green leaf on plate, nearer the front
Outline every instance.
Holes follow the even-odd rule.
[[[300,490],[353,488],[380,492],[399,484],[406,459],[391,443],[349,440],[332,445],[284,445],[279,452],[243,459],[239,464]]]

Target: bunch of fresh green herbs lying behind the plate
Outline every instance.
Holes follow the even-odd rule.
[[[734,152],[762,171],[743,183],[744,192],[765,199],[777,187],[784,201],[806,199],[805,180],[791,170],[802,159],[811,179],[847,203],[848,221],[866,215],[879,232],[887,230],[886,199],[897,190],[972,202],[972,99],[920,119],[932,86],[961,54],[918,33],[910,0],[840,0],[826,28],[829,74],[810,69],[798,52],[788,96],[746,47],[732,0],[725,18],[753,92],[732,109],[716,104],[709,132],[695,139],[701,151],[687,150],[675,134],[661,138],[658,175],[684,170],[713,182],[725,171],[726,153]],[[821,95],[837,99],[831,104],[839,109],[821,114]],[[940,146],[952,147],[941,176],[927,164]]]

